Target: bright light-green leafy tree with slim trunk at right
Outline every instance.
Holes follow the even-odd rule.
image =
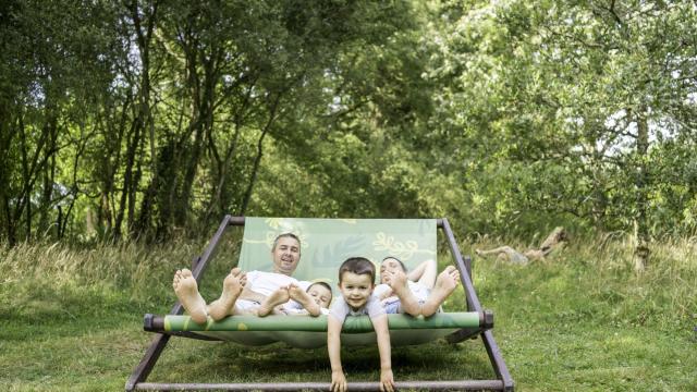
[[[519,181],[509,192],[519,189],[524,198],[512,205],[572,213],[600,229],[634,225],[643,269],[661,183],[650,152],[694,130],[683,120],[694,111],[697,57],[685,40],[694,7],[469,7],[443,11],[457,19],[435,71],[458,82],[445,93],[455,101],[445,115],[462,111],[460,126],[481,124],[474,128],[477,139],[498,139],[498,157],[487,161],[527,167],[527,175],[510,173]]]

